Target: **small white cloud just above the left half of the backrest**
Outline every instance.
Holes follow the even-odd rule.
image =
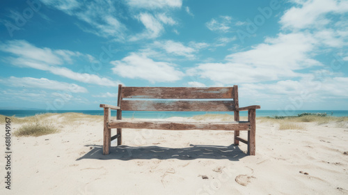
[[[112,61],[116,75],[130,79],[145,79],[152,83],[180,80],[184,73],[175,68],[175,64],[153,61],[144,54],[131,53],[120,61]]]

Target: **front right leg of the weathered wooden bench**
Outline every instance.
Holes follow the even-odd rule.
[[[248,155],[255,155],[255,132],[256,132],[256,121],[255,121],[255,109],[248,109],[248,121],[250,122],[250,131],[248,131]]]

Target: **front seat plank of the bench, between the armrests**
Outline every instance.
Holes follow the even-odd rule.
[[[171,122],[111,120],[109,128],[152,130],[250,130],[249,122]]]

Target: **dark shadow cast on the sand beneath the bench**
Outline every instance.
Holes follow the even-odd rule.
[[[159,146],[114,146],[111,147],[109,155],[102,154],[102,146],[86,145],[93,147],[80,159],[229,159],[230,161],[238,161],[246,154],[239,149],[238,146],[205,146],[205,145],[190,145],[189,148],[166,148]]]

